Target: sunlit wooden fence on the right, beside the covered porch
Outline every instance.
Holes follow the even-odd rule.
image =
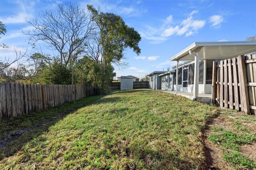
[[[256,113],[256,54],[214,61],[212,73],[213,103]]]

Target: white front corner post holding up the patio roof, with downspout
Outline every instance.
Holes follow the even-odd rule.
[[[195,57],[193,101],[196,101],[196,98],[198,97],[198,83],[199,83],[199,51],[195,51],[192,53],[192,51],[189,50],[189,54],[194,55]]]

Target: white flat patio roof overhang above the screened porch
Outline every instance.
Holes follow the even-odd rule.
[[[243,42],[195,42],[183,51],[174,55],[171,61],[194,60],[189,51],[199,51],[199,59],[227,59],[256,51],[256,41]]]

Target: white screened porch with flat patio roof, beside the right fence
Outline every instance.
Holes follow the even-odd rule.
[[[174,91],[198,94],[212,93],[212,61],[229,59],[256,51],[256,41],[244,42],[195,42],[171,58],[177,61],[172,67],[176,72]],[[185,61],[179,64],[179,61]],[[178,68],[178,70],[177,70]],[[178,77],[178,78],[176,78]]]

